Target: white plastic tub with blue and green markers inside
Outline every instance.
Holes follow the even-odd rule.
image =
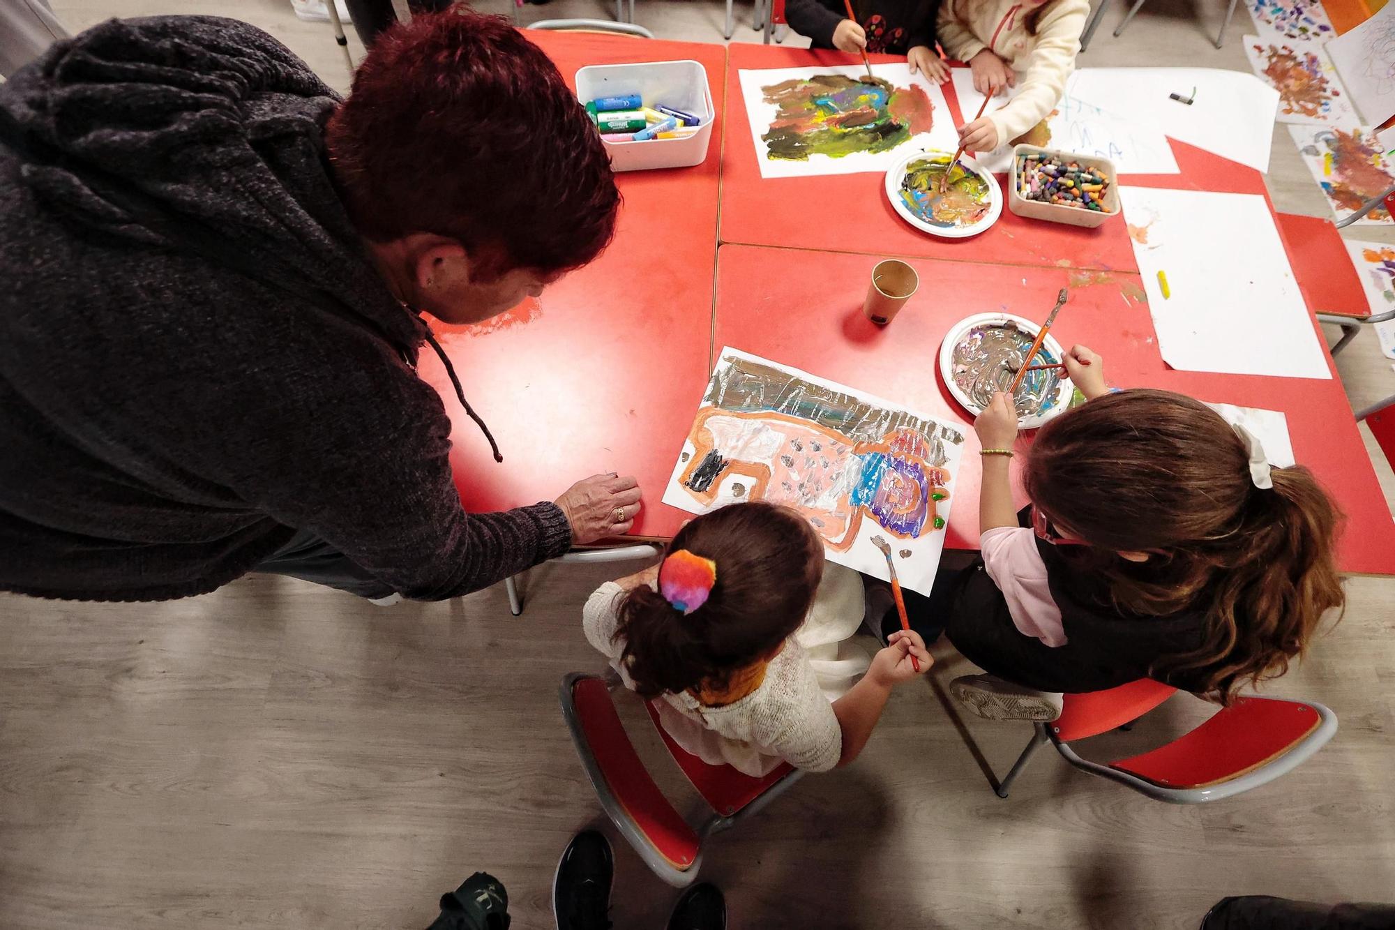
[[[589,64],[576,73],[576,98],[618,172],[707,159],[716,109],[699,61]]]

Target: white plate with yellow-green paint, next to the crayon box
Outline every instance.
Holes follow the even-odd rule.
[[[905,222],[946,239],[976,236],[1003,215],[997,179],[968,155],[911,152],[886,173],[886,197]],[[943,193],[940,179],[947,176]]]

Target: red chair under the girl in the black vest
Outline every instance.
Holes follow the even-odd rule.
[[[1200,804],[1272,782],[1336,733],[1336,715],[1321,704],[1243,697],[1190,733],[1140,755],[1092,762],[1071,748],[1076,740],[1131,723],[1175,691],[1140,679],[1108,691],[1064,695],[1059,718],[1032,725],[1035,733],[997,786],[997,796],[1007,797],[1007,789],[1036,750],[1052,743],[1062,758],[1091,775],[1119,782],[1154,800]]]

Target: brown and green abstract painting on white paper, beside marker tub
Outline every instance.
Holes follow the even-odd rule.
[[[861,66],[739,71],[760,176],[884,172],[905,145],[957,147],[937,85],[905,64],[873,74],[869,81]]]

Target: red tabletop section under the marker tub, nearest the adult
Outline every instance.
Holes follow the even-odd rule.
[[[568,84],[585,64],[693,59],[721,112],[718,45],[529,32]],[[710,371],[721,154],[713,130],[696,168],[617,175],[615,240],[594,263],[469,331],[441,327],[465,395],[498,438],[495,464],[432,353],[421,377],[452,418],[451,465],[466,510],[552,500],[597,472],[633,473],[644,511],[633,533],[671,536],[685,514],[658,503]]]

